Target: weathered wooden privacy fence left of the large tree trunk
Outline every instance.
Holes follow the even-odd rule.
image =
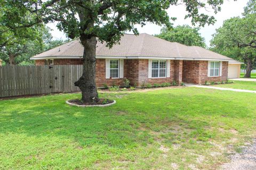
[[[0,97],[80,91],[83,65],[0,66]]]

